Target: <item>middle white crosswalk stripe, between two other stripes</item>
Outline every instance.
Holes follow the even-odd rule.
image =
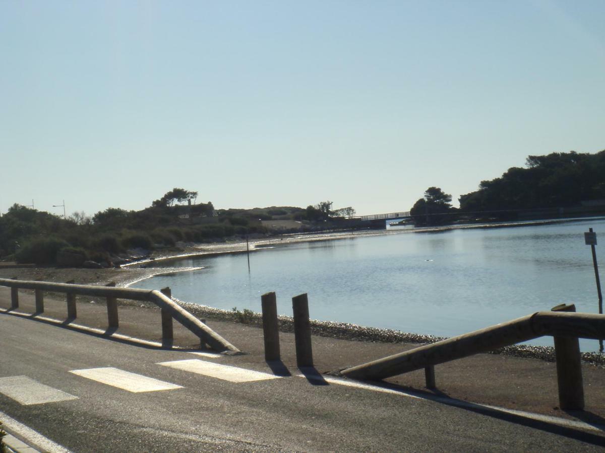
[[[143,391],[173,390],[182,388],[180,385],[170,384],[170,382],[160,381],[152,377],[142,376],[141,374],[130,373],[119,368],[89,368],[88,370],[72,370],[70,373],[78,376],[101,382],[102,384],[112,385],[122,388],[132,393]]]

